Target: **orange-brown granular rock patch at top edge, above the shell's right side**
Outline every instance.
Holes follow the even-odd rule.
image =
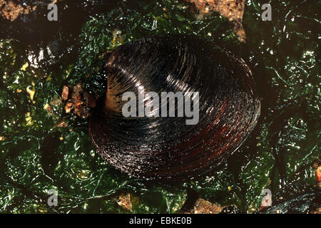
[[[242,25],[245,9],[244,0],[186,0],[195,4],[200,17],[213,11],[220,13],[229,21],[233,21],[234,31],[241,42],[245,42],[245,31]]]

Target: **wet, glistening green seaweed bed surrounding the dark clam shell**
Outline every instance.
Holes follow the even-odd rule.
[[[29,14],[2,12],[0,19],[0,212],[180,213],[203,199],[233,207],[228,212],[255,213],[266,189],[272,206],[304,192],[320,195],[313,166],[321,154],[320,1],[247,0],[245,36],[235,21],[218,11],[200,14],[189,1],[59,1],[58,21],[47,19],[46,1],[22,2],[31,5]],[[261,18],[265,3],[271,21]],[[107,53],[143,36],[178,33],[243,58],[260,97],[258,124],[205,177],[129,177],[96,153],[88,118],[66,113],[63,86],[80,83],[98,98],[106,90]],[[48,193],[55,190],[58,205],[51,207]]]

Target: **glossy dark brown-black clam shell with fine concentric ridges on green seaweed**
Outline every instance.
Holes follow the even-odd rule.
[[[104,160],[135,177],[185,180],[208,172],[240,147],[260,115],[248,66],[201,38],[131,41],[108,56],[106,67],[106,95],[89,132]],[[138,86],[160,98],[162,91],[199,92],[198,123],[187,125],[185,117],[123,117],[121,97],[131,91],[138,98]]]

